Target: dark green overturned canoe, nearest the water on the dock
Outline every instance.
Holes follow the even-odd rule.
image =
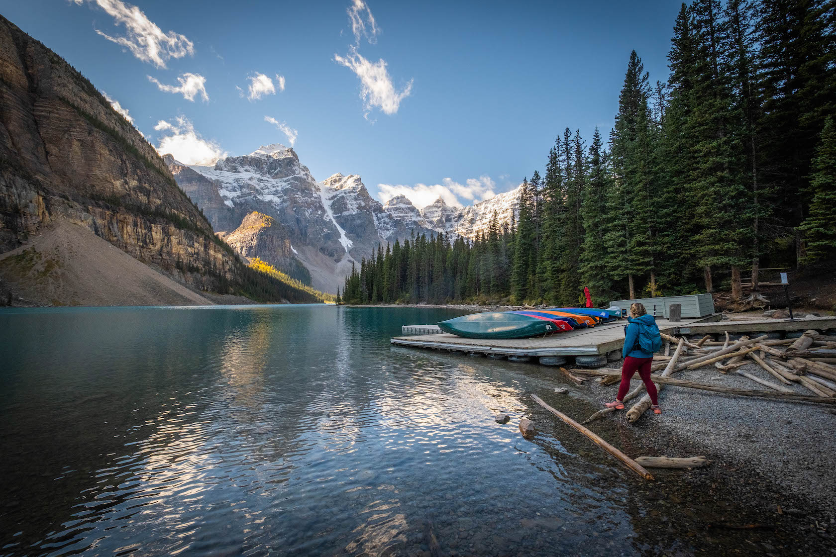
[[[551,317],[529,316],[512,311],[474,313],[448,319],[438,324],[443,332],[465,338],[526,338],[571,331],[565,321]]]

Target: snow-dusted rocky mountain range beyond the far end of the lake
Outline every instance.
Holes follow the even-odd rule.
[[[258,257],[315,289],[334,292],[362,257],[411,235],[475,238],[494,212],[500,226],[516,215],[519,191],[466,207],[441,198],[418,210],[404,195],[385,204],[359,175],[317,181],[292,148],[263,145],[214,166],[184,165],[165,154],[181,189],[217,235],[247,258]]]

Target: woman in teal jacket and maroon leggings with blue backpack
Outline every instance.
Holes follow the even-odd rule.
[[[653,413],[660,414],[662,410],[659,408],[658,392],[656,386],[650,381],[650,363],[653,362],[653,352],[659,350],[662,345],[659,327],[656,327],[654,316],[648,315],[645,306],[638,302],[630,304],[630,317],[627,318],[627,322],[629,324],[626,327],[624,348],[621,350],[624,364],[621,366],[619,394],[613,403],[606,403],[604,406],[616,410],[623,409],[624,395],[630,390],[630,379],[635,372],[639,372],[639,377],[645,382],[647,394],[650,395],[650,402],[653,403],[650,408],[653,409]]]

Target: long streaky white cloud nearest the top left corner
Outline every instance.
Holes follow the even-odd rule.
[[[73,0],[79,6],[84,0]],[[145,16],[140,8],[120,0],[87,0],[102,8],[114,18],[115,25],[125,25],[125,37],[111,37],[96,29],[102,37],[128,48],[136,58],[153,63],[157,68],[166,68],[170,58],[182,58],[195,53],[195,45],[180,33],[163,33],[156,23]]]

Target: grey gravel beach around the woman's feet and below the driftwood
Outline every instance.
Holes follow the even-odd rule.
[[[610,367],[620,367],[620,362]],[[755,363],[741,369],[775,381]],[[767,390],[736,372],[724,375],[714,367],[678,372],[675,377]],[[631,387],[639,384],[636,375]],[[788,388],[812,394],[797,383]],[[618,383],[604,387],[592,377],[579,387],[602,405],[614,399],[617,389]],[[711,484],[726,493],[737,490],[741,500],[761,509],[770,522],[796,530],[809,544],[809,554],[836,554],[836,405],[665,386],[660,392],[663,413],[647,412],[635,424],[627,424],[624,414],[636,400],[628,402],[624,411],[603,419],[638,433],[640,448],[650,456],[703,454],[711,461],[706,468],[665,473],[682,473],[683,481]],[[589,427],[595,430],[601,424]]]

